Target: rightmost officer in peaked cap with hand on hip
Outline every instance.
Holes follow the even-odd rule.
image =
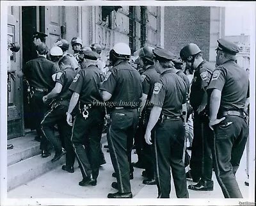
[[[249,98],[249,79],[236,63],[236,44],[220,39],[216,52],[217,68],[207,88],[211,95],[209,126],[215,134],[214,171],[225,198],[243,198],[235,175],[249,132],[243,112]]]

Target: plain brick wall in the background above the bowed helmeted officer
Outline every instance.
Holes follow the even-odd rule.
[[[210,7],[166,6],[164,10],[164,48],[179,56],[186,44],[197,44],[209,60]]]

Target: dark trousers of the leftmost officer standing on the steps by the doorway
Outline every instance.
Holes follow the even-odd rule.
[[[33,97],[31,98],[31,113],[33,116],[31,121],[33,121],[37,136],[41,137],[41,142],[40,142],[41,150],[49,150],[51,146],[49,143],[49,140],[45,138],[44,135],[42,135],[42,130],[41,130],[41,122],[47,110],[50,109],[49,105],[44,104],[43,102],[43,97],[46,94],[47,92],[34,91]]]

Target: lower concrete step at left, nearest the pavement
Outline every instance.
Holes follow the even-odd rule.
[[[53,170],[57,166],[65,163],[65,155],[59,161],[51,162],[54,152],[51,156],[42,158],[35,155],[23,161],[17,162],[7,168],[7,191],[14,189],[22,184],[35,179],[36,177]]]

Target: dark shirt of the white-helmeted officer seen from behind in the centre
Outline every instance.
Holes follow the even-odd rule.
[[[142,97],[141,75],[127,61],[121,61],[109,70],[100,90],[111,93],[109,106],[137,108]]]

